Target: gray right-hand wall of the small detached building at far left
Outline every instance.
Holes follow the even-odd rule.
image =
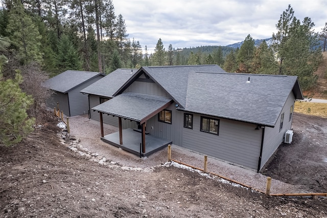
[[[89,107],[88,107],[88,97],[87,95],[83,95],[80,91],[90,84],[98,81],[101,79],[102,76],[95,77],[90,79],[89,81],[77,86],[75,89],[69,91],[69,108],[71,110],[70,116],[76,116],[81,114],[87,114]]]

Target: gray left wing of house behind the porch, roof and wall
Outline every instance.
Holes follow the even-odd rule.
[[[90,110],[90,108],[113,98],[113,95],[137,72],[137,70],[138,69],[117,69],[80,91],[88,95],[90,119],[100,121],[99,113]],[[105,116],[103,122],[118,126],[118,117]]]

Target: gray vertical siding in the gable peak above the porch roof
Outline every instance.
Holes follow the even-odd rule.
[[[141,81],[134,81],[125,92],[136,92],[148,95],[158,95],[169,97],[167,92],[161,89],[156,83],[154,82],[141,82]]]

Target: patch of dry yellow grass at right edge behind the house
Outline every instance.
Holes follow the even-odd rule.
[[[327,118],[327,104],[296,101],[294,112]]]

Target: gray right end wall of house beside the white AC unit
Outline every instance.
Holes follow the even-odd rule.
[[[293,110],[294,110],[294,101],[295,101],[295,97],[293,92],[291,92],[286,100],[286,103],[281,113],[281,115],[284,113],[284,122],[283,122],[283,128],[280,132],[279,132],[279,125],[281,124],[281,115],[279,115],[274,128],[266,127],[260,169],[265,165],[265,163],[269,160],[272,154],[274,154],[278,146],[283,142],[286,131],[288,129],[291,129],[293,118],[289,120],[289,117],[290,117],[291,106],[293,106]]]

